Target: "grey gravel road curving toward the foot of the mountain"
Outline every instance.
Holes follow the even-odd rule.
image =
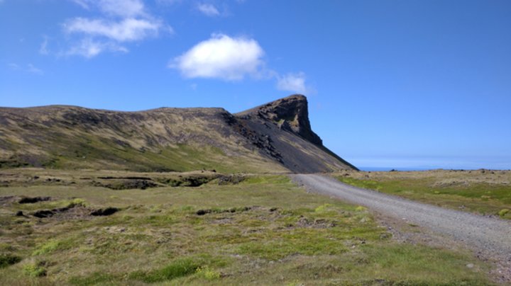
[[[296,174],[292,175],[292,179],[316,193],[363,205],[390,217],[406,219],[407,222],[447,234],[481,251],[495,253],[511,261],[511,222],[503,219],[448,210],[373,190],[356,188],[328,176]]]

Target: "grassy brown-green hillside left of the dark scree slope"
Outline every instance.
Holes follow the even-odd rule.
[[[6,109],[0,167],[133,171],[284,171],[247,149],[221,108],[161,108],[117,113],[68,106]]]

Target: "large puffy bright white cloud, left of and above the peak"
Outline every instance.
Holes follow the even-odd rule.
[[[257,74],[263,55],[263,49],[253,39],[214,34],[176,57],[170,67],[179,69],[188,78],[234,81]]]

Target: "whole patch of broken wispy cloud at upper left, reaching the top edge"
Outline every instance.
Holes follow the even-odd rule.
[[[101,52],[128,52],[126,42],[156,37],[160,32],[172,33],[172,27],[153,17],[141,0],[71,0],[82,8],[99,9],[101,18],[76,17],[62,27],[79,40],[65,55],[95,57]]]

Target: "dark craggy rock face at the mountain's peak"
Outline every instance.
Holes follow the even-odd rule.
[[[256,115],[270,122],[277,122],[280,129],[292,132],[313,144],[323,144],[322,139],[312,131],[307,98],[300,94],[281,98],[237,115],[241,117]]]

